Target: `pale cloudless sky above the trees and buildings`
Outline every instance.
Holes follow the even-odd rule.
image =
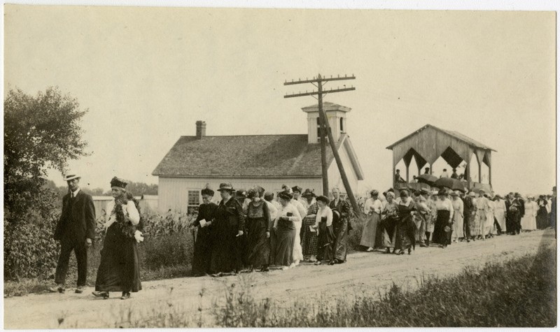
[[[385,147],[425,124],[497,150],[498,193],[555,182],[554,12],[6,5],[4,20],[4,93],[58,86],[89,109],[92,156],[71,163],[87,187],[157,183],[197,120],[207,135],[307,133],[316,100],[283,95],[313,87],[283,82],[317,73],[356,75],[325,101],[352,108],[358,192],[391,186]]]

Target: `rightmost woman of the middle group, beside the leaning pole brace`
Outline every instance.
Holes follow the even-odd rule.
[[[330,201],[329,208],[337,209],[340,212],[340,219],[338,222],[333,222],[332,228],[335,231],[335,243],[333,245],[335,254],[335,263],[342,264],[346,261],[346,254],[348,253],[348,232],[349,232],[349,217],[351,214],[350,203],[340,198],[340,189],[337,187],[331,191],[332,201]]]

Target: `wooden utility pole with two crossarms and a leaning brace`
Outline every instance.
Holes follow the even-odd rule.
[[[328,140],[330,143],[330,148],[332,149],[332,154],[335,156],[335,160],[337,162],[338,171],[340,172],[340,177],[342,178],[342,183],[344,183],[344,188],[346,189],[346,194],[348,194],[348,198],[350,199],[350,203],[354,210],[354,213],[358,214],[360,212],[360,208],[358,207],[358,202],[356,201],[356,197],[353,195],[352,188],[350,187],[350,182],[346,177],[346,172],[344,171],[344,166],[342,165],[342,159],[340,159],[340,155],[338,154],[338,150],[336,147],[336,143],[334,138],[332,137],[332,132],[330,131],[330,125],[328,124],[328,118],[323,110],[323,95],[330,94],[334,92],[344,92],[344,91],[352,91],[355,90],[355,87],[344,87],[342,89],[324,89],[323,90],[323,83],[330,82],[333,80],[355,80],[356,77],[354,75],[346,76],[344,75],[343,78],[337,76],[333,78],[323,78],[321,74],[318,74],[316,78],[312,80],[297,80],[291,82],[284,82],[284,85],[295,85],[295,84],[302,84],[302,83],[311,83],[317,87],[317,91],[312,92],[304,92],[298,94],[286,94],[284,98],[293,98],[299,96],[312,96],[318,100],[318,110],[319,110],[319,134],[321,138],[321,169],[323,175],[323,195],[328,196],[328,169],[327,169],[327,157],[326,157],[326,147],[325,147],[325,132],[328,135]]]

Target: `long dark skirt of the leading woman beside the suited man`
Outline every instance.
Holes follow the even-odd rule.
[[[105,235],[95,290],[135,292],[141,289],[136,240],[127,238],[115,222]]]

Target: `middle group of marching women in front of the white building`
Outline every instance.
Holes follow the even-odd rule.
[[[203,203],[193,222],[194,275],[346,261],[351,208],[338,188],[332,189],[332,201],[298,186],[283,186],[276,199],[259,186],[245,191],[222,183],[218,192],[218,204],[211,201],[214,191],[208,186],[201,192]]]

